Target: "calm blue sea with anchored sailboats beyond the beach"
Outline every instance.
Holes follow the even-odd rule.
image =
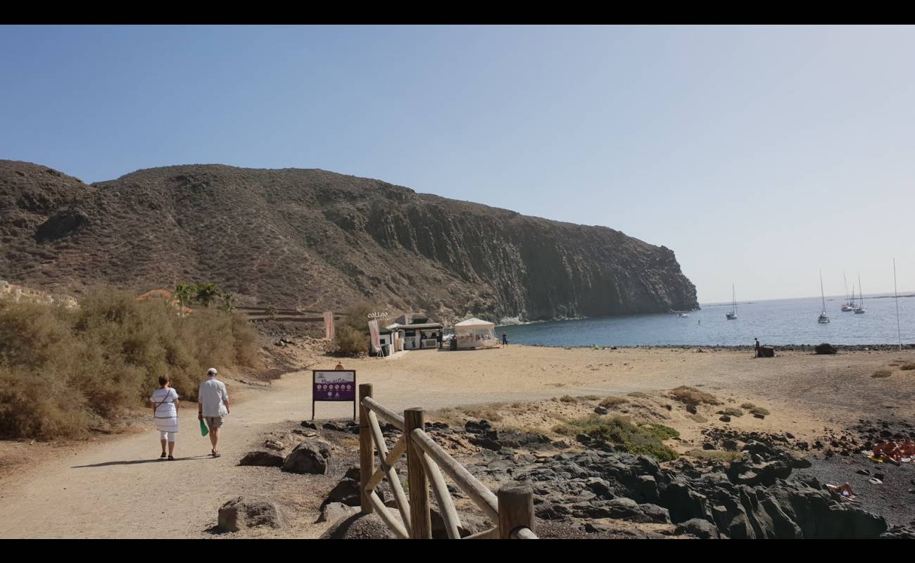
[[[498,327],[509,342],[543,346],[635,346],[716,344],[895,344],[896,300],[865,296],[867,313],[841,311],[844,298],[826,298],[831,322],[818,324],[820,298],[737,302],[737,320],[727,320],[731,304],[706,304],[689,317],[669,313],[558,320]],[[902,342],[915,342],[915,298],[899,297]]]

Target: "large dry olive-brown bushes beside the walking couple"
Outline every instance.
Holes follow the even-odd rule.
[[[210,366],[256,363],[256,340],[240,316],[114,290],[77,310],[0,302],[0,436],[85,436],[146,406],[160,375],[195,400]]]

